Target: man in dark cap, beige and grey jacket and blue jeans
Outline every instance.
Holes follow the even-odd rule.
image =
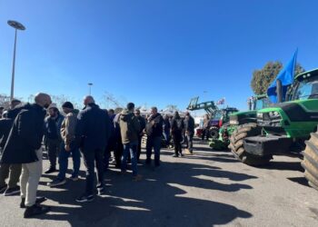
[[[63,112],[66,114],[65,119],[61,126],[61,136],[63,139],[61,151],[58,155],[59,173],[56,179],[47,183],[50,187],[65,184],[65,174],[67,171],[68,157],[72,154],[73,158],[73,173],[70,180],[77,181],[78,173],[81,164],[81,155],[77,146],[75,146],[75,127],[77,123],[78,110],[70,102],[65,102],[62,105]]]

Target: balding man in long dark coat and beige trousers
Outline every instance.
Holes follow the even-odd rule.
[[[51,103],[48,94],[36,94],[35,104],[20,107],[1,158],[1,163],[22,163],[20,207],[26,208],[25,218],[50,210],[49,207],[39,205],[45,198],[36,198],[36,191],[42,174],[44,107],[47,108]]]

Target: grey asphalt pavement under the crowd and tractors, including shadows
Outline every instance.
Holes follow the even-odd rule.
[[[43,175],[38,195],[52,211],[25,220],[19,196],[1,195],[0,226],[318,226],[318,191],[307,185],[299,158],[275,156],[254,168],[201,141],[194,155],[172,154],[162,150],[158,168],[139,165],[141,182],[111,168],[106,194],[94,202],[75,202],[84,192],[84,164],[78,182],[58,188],[46,186],[56,173]]]

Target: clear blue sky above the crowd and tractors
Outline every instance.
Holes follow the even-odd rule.
[[[0,94],[10,93],[14,19],[15,95],[43,91],[81,102],[92,82],[121,102],[177,104],[190,98],[245,109],[254,69],[269,60],[318,67],[316,1],[0,0]],[[207,91],[207,93],[204,93]]]

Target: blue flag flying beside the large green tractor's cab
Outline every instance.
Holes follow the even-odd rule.
[[[277,94],[276,94],[276,81],[279,79],[282,82],[282,95],[283,101],[285,99],[287,88],[290,84],[293,84],[293,74],[296,66],[296,58],[297,58],[298,49],[294,52],[293,58],[286,64],[281,72],[276,76],[273,83],[267,88],[267,95],[270,98],[273,104],[277,103]]]

